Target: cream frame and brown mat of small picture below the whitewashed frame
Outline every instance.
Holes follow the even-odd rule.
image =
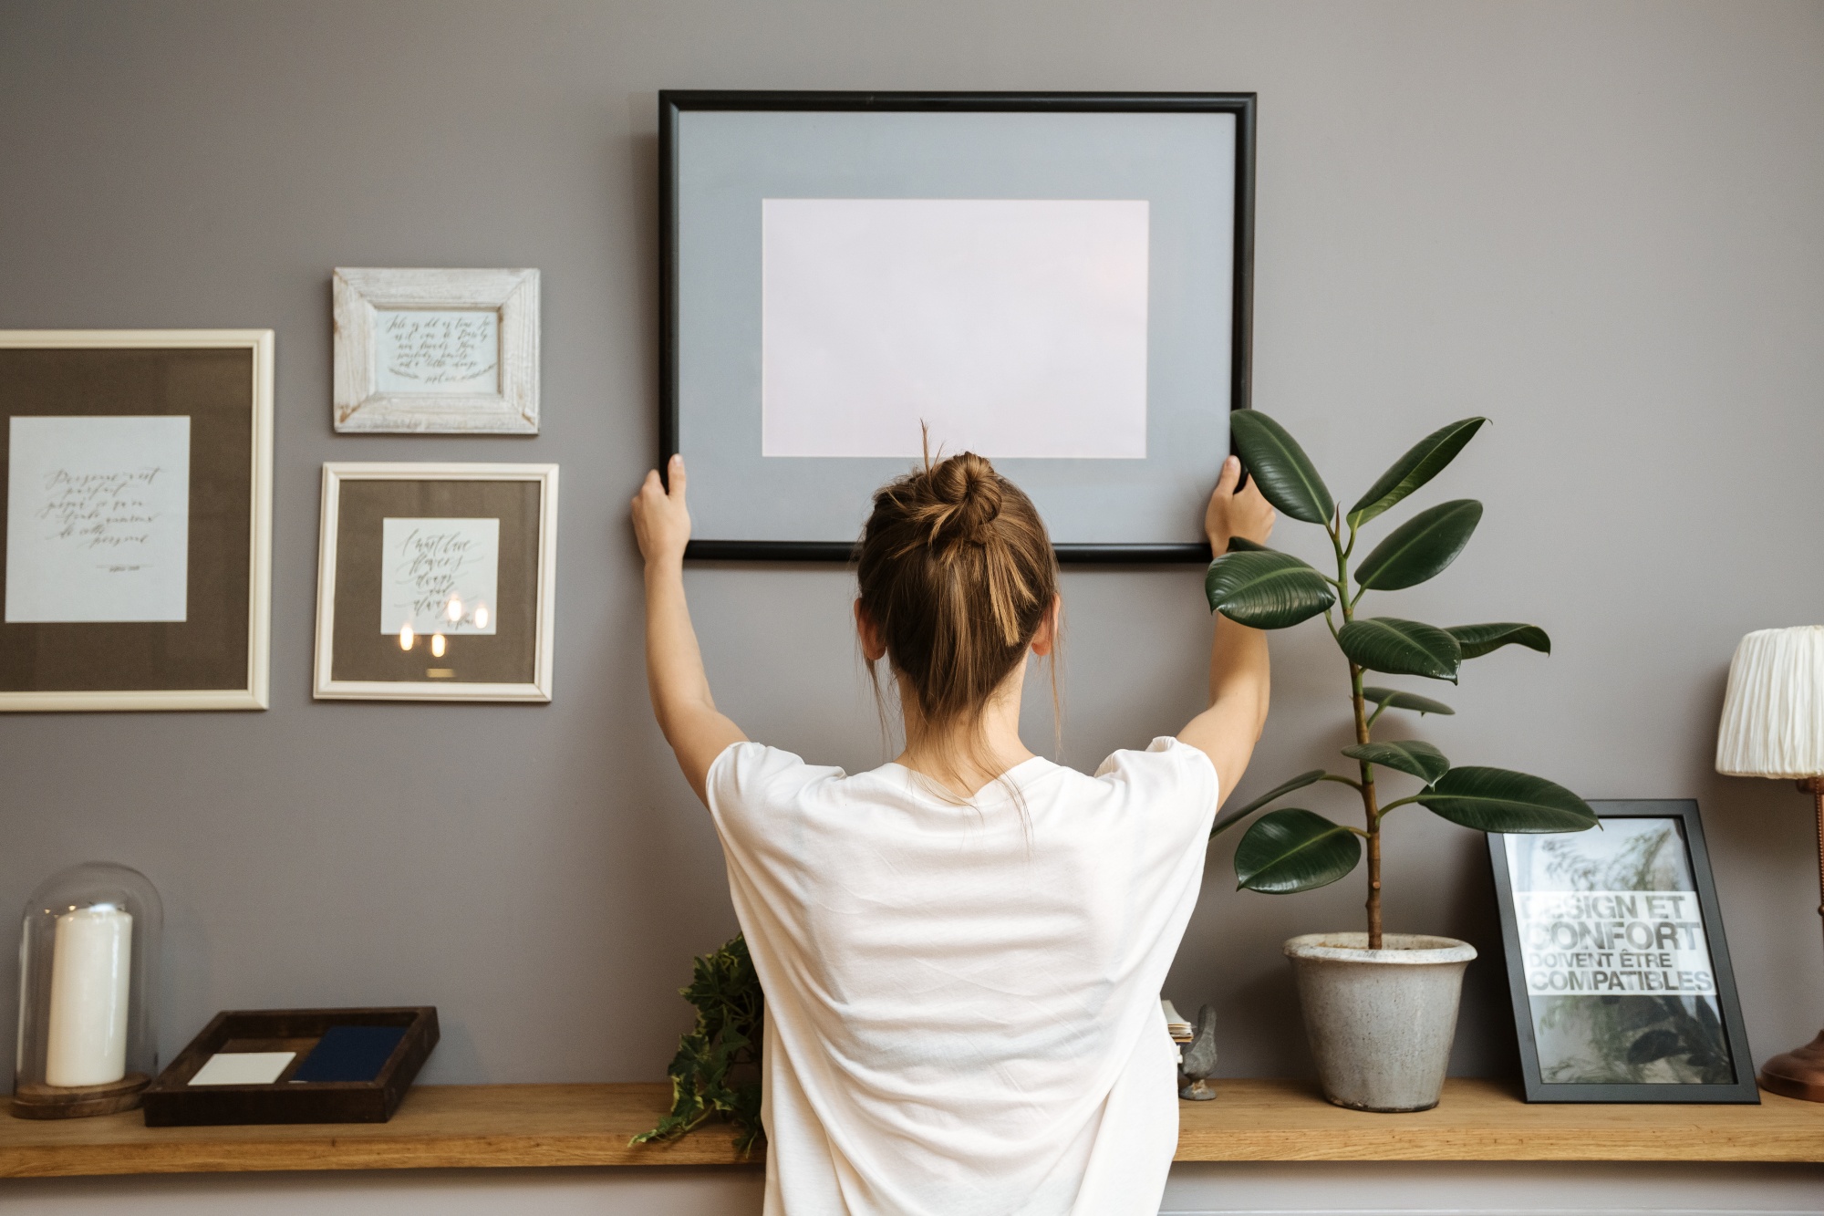
[[[376,500],[372,491],[359,487],[394,484]],[[410,486],[410,484],[416,484]],[[379,557],[378,537],[385,531],[387,511],[401,515],[451,515],[472,520],[487,515],[487,495],[513,484],[536,487],[536,502],[520,509],[514,520],[500,526],[500,581],[502,603],[498,634],[489,637],[452,637],[449,655],[436,652],[436,666],[427,666],[432,639],[416,637],[401,650],[401,641],[378,648],[363,641],[361,654],[350,657],[350,637],[383,637],[379,628],[381,601],[379,573],[359,564],[361,548],[370,559]],[[358,502],[365,498],[365,502]],[[507,511],[513,515],[513,508]],[[553,643],[556,623],[556,526],[558,526],[558,466],[554,464],[381,464],[330,462],[323,466],[321,539],[317,546],[317,634],[312,661],[312,696],[316,699],[352,701],[549,701],[553,672]],[[523,539],[527,529],[534,537]],[[513,537],[520,535],[520,540]],[[367,579],[374,582],[368,588]],[[363,590],[352,592],[359,584]],[[374,593],[367,593],[374,592]],[[509,601],[522,604],[514,613]],[[520,643],[513,643],[518,634]],[[505,635],[505,637],[503,637]],[[337,659],[337,637],[345,655]],[[478,655],[480,670],[498,672],[502,665],[509,677],[469,677],[469,657],[458,648],[482,645],[496,652],[514,648],[505,659]],[[529,645],[527,645],[529,643]],[[420,646],[423,655],[405,661]],[[516,657],[514,657],[516,655]],[[420,674],[423,672],[423,674]]]

